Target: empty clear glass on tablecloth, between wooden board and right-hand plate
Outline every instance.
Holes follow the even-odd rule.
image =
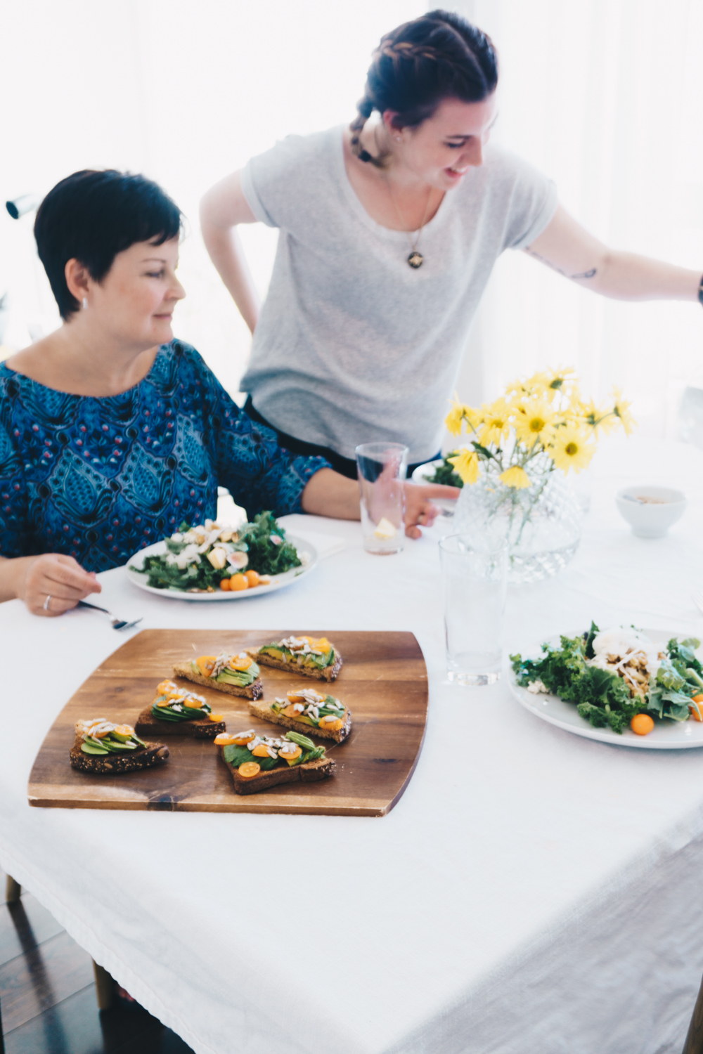
[[[503,662],[507,545],[493,534],[449,534],[440,542],[447,676],[493,684]]]

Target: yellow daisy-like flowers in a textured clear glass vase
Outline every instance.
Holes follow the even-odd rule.
[[[598,406],[581,397],[573,370],[546,370],[509,384],[481,408],[454,402],[446,425],[468,444],[447,461],[464,487],[456,529],[502,533],[513,582],[555,573],[581,536],[569,472],[587,468],[601,434],[634,427],[621,392]]]

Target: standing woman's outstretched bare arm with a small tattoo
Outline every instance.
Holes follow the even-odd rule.
[[[579,286],[618,300],[695,300],[700,271],[609,249],[559,206],[553,219],[525,250]]]

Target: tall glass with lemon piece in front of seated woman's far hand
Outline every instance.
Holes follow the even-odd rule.
[[[356,466],[364,548],[376,555],[401,552],[408,448],[402,443],[363,443],[356,447]]]

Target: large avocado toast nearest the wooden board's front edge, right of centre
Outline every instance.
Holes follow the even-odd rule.
[[[281,783],[313,783],[332,776],[333,758],[299,733],[284,739],[257,736],[253,728],[222,733],[215,745],[230,769],[235,794],[258,794]]]

